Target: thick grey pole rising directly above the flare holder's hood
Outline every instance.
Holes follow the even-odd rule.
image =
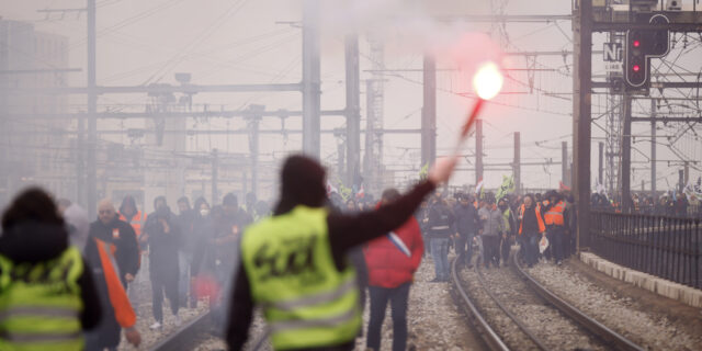
[[[303,152],[319,159],[319,0],[303,3]]]

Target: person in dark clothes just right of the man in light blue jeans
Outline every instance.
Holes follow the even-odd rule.
[[[478,233],[480,222],[471,195],[460,194],[453,213],[456,217],[453,230],[456,239],[456,254],[463,256],[466,267],[473,268],[473,238]]]

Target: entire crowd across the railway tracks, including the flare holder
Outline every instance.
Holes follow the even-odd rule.
[[[238,350],[261,306],[275,349],[351,350],[365,330],[366,348],[380,350],[389,305],[393,350],[405,350],[409,291],[422,259],[431,259],[432,282],[441,283],[449,281],[450,250],[462,264],[485,269],[509,264],[514,244],[528,267],[561,264],[575,252],[568,190],[450,195],[437,186],[455,162],[438,166],[406,194],[386,189],[375,201],[328,194],[324,168],[291,157],[272,211],[252,194],[241,206],[229,193],[214,206],[178,199],[178,213],[157,196],[147,214],[127,195],[118,207],[100,201],[90,222],[77,204],[29,189],[2,217],[0,314],[8,317],[0,319],[0,349],[41,350],[50,341],[52,350],[115,350],[123,332],[138,346],[129,292],[149,283],[154,330],[166,319],[180,325],[182,308],[206,302],[219,335]],[[679,211],[684,199],[659,203]],[[592,206],[615,208],[602,195]],[[166,299],[172,318],[163,318]],[[39,320],[41,332],[23,330],[27,320]]]

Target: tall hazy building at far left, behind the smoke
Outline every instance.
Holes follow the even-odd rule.
[[[66,36],[0,20],[0,206],[30,184],[75,197],[75,143],[65,133],[70,124],[30,117],[67,113],[68,97],[20,91],[66,87],[68,50]]]

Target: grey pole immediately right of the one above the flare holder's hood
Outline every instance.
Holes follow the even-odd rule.
[[[361,77],[359,72],[359,36],[346,37],[347,70],[347,184],[353,189],[360,174],[361,159]],[[367,134],[365,136],[369,137]]]

